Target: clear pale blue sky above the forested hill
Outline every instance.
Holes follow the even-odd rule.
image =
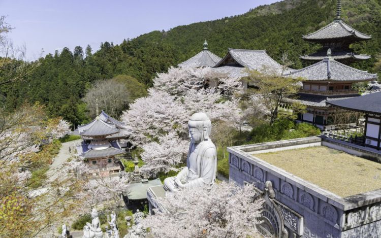
[[[220,19],[279,0],[0,0],[0,15],[14,29],[15,46],[26,46],[26,58],[37,59],[68,47],[93,52],[101,42],[120,44],[152,30]],[[42,53],[43,50],[43,53]]]

